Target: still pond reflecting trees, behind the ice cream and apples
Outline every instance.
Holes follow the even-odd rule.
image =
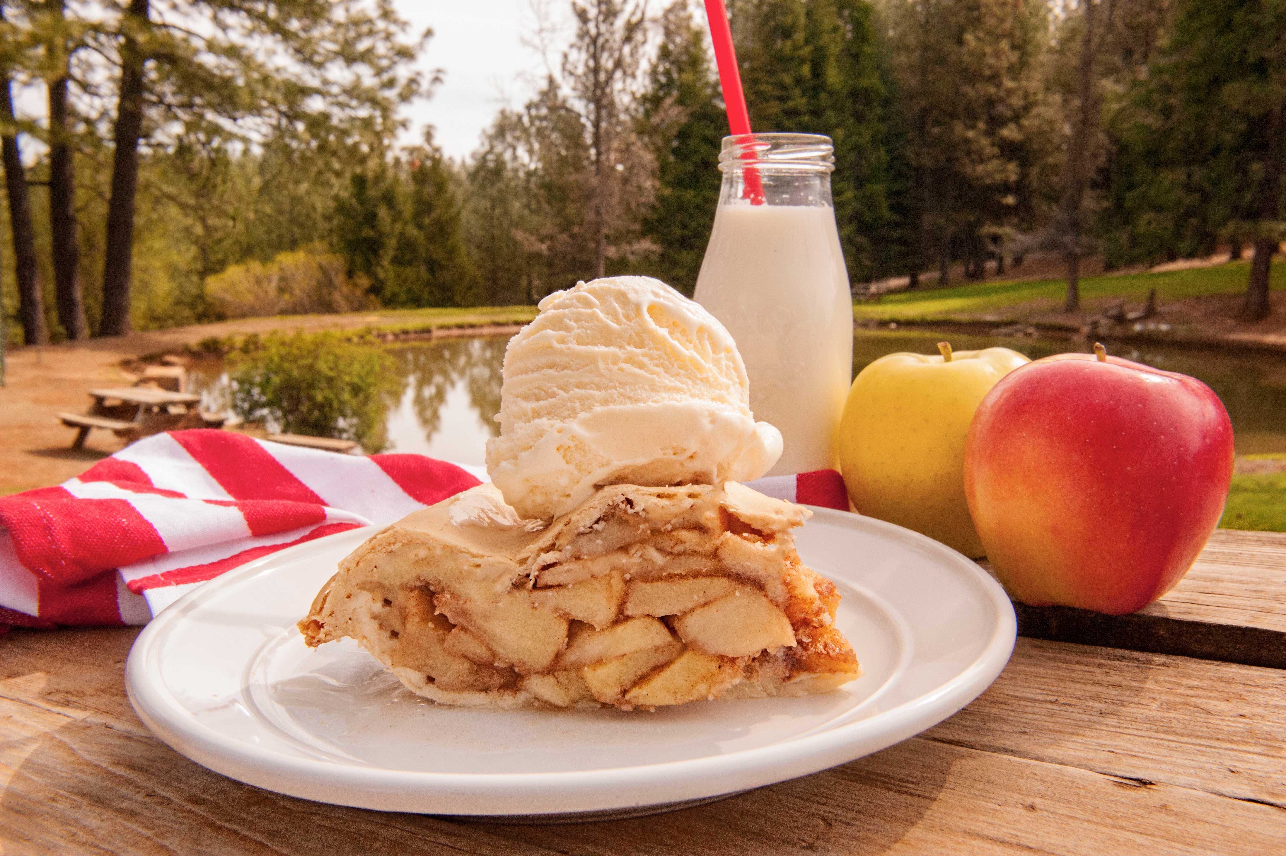
[[[1088,350],[1083,341],[1058,339],[863,330],[854,336],[853,371],[894,351],[936,354],[936,342],[944,339],[955,350],[1003,346],[1033,359]],[[487,438],[500,430],[495,414],[500,409],[500,363],[507,341],[446,339],[388,346],[401,384],[387,400],[385,451],[481,465]],[[1238,454],[1286,453],[1286,358],[1151,345],[1118,345],[1109,353],[1209,384],[1232,416]],[[193,390],[202,394],[204,409],[228,411],[228,376],[219,360],[193,366],[190,378]]]

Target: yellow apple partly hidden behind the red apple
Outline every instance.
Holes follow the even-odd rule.
[[[856,510],[984,555],[964,501],[964,440],[997,381],[1029,363],[1008,348],[889,354],[858,373],[840,420],[840,469]]]

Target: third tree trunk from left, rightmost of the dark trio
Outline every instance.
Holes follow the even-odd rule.
[[[143,66],[139,32],[148,27],[149,0],[130,0],[121,42],[121,102],[116,112],[112,200],[107,206],[103,260],[103,321],[99,336],[130,331],[130,263],[134,248],[134,197],[139,189],[139,138],[143,134]]]

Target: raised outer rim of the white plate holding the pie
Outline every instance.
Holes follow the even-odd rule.
[[[962,554],[927,535],[859,514],[806,506],[814,519],[842,528],[869,528],[935,554],[984,593],[997,620],[977,656],[948,681],[914,699],[871,717],[833,729],[790,738],[727,754],[664,761],[629,767],[556,772],[428,772],[347,766],[318,758],[265,750],[225,735],[195,720],[174,694],[148,680],[148,665],[161,655],[158,642],[203,599],[265,573],[298,552],[316,550],[331,538],[367,537],[383,526],[363,526],[287,547],[256,559],[185,593],[144,626],[130,647],[125,667],[126,695],[135,713],[158,739],[197,763],[230,779],[292,797],[385,811],[419,811],[457,816],[513,816],[513,806],[494,805],[532,797],[547,803],[523,808],[530,816],[631,808],[718,797],[819,772],[886,749],[912,738],[964,708],[999,677],[1017,638],[1013,605],[1001,584]],[[244,691],[244,687],[243,687]],[[899,725],[887,727],[890,721]],[[854,750],[854,748],[856,749]],[[271,767],[271,768],[269,768]],[[337,781],[336,779],[342,779]],[[664,789],[664,798],[628,798],[640,790]],[[328,793],[331,792],[331,793]],[[342,793],[341,793],[342,792]],[[360,793],[359,793],[360,792]],[[616,798],[613,798],[613,796]],[[585,802],[568,808],[571,801]],[[433,802],[432,808],[414,807]],[[480,805],[490,802],[493,805]]]

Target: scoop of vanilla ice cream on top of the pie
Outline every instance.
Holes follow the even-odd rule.
[[[723,484],[768,472],[782,435],[750,412],[732,336],[649,277],[540,301],[509,341],[486,467],[523,517],[566,514],[604,484]]]

